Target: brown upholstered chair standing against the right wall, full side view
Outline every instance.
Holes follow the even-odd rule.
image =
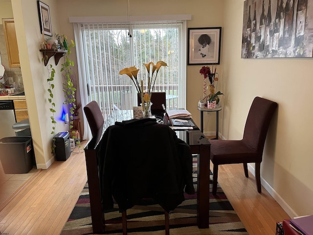
[[[216,194],[217,191],[219,165],[238,163],[244,164],[246,177],[248,177],[247,163],[255,163],[255,181],[257,190],[261,193],[260,166],[269,122],[276,107],[276,102],[255,97],[246,119],[242,140],[210,140],[213,194]]]

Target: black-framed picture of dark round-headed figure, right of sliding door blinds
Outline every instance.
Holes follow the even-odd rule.
[[[222,27],[188,28],[188,65],[219,65]]]

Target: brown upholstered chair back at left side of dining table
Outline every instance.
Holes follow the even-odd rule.
[[[89,123],[92,137],[94,137],[99,129],[103,128],[104,118],[101,109],[96,101],[91,101],[84,107],[84,112]]]

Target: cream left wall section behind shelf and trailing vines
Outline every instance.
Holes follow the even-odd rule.
[[[45,3],[50,7],[53,32],[57,32],[59,7],[54,0],[46,0]],[[46,79],[48,78],[48,71],[42,63],[43,54],[39,51],[42,34],[40,32],[37,0],[12,0],[12,9],[36,164],[37,168],[46,169],[54,162],[54,156],[51,154],[52,123],[49,111],[51,106],[47,101],[48,84]],[[53,89],[56,104],[55,118],[59,119],[56,125],[56,133],[68,130],[68,126],[60,121],[64,102],[63,78],[60,72],[61,63],[62,59],[58,66],[55,66],[54,58],[49,60],[49,64],[56,71],[55,88]]]

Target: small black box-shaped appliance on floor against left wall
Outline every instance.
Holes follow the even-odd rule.
[[[59,132],[54,137],[55,157],[57,161],[67,161],[70,156],[70,141],[68,132]]]

